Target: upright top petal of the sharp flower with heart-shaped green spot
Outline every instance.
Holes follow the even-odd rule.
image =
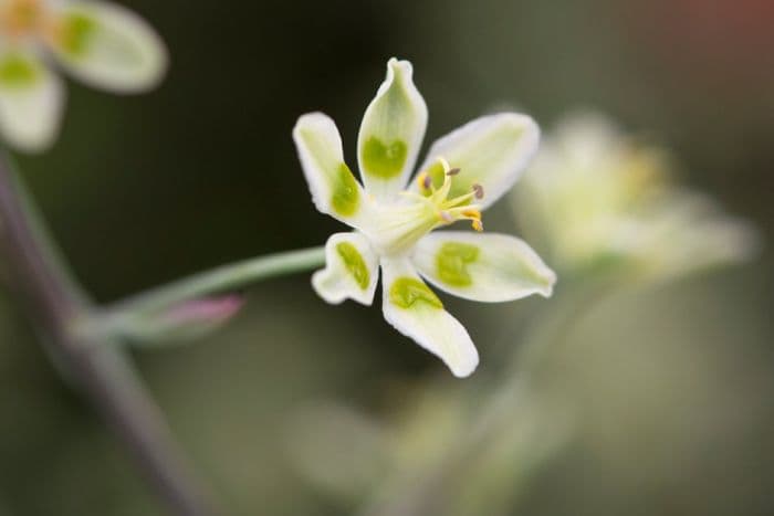
[[[357,159],[363,183],[377,199],[406,187],[427,128],[427,105],[408,61],[387,63],[387,78],[363,116]]]

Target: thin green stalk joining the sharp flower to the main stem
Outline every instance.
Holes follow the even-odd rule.
[[[324,264],[325,248],[322,246],[259,256],[195,274],[121,301],[106,307],[103,316],[112,318],[127,314],[151,314],[263,280],[311,271]]]

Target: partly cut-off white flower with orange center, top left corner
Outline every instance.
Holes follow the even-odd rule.
[[[103,1],[0,0],[0,134],[27,151],[56,137],[64,105],[53,61],[75,78],[115,93],[155,86],[167,52],[133,12]]]

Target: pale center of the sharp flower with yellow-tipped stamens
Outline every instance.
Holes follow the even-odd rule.
[[[481,211],[474,200],[482,199],[484,191],[473,185],[471,191],[449,197],[454,178],[462,173],[439,158],[427,170],[417,175],[417,191],[407,190],[402,203],[379,207],[372,242],[383,254],[400,254],[436,228],[459,220],[469,220],[475,231],[483,231]]]

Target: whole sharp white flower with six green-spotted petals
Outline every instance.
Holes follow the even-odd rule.
[[[411,64],[395,59],[360,125],[363,186],[344,162],[333,120],[322,113],[299,119],[293,139],[315,206],[355,229],[328,239],[326,267],[312,283],[328,303],[370,305],[380,267],[387,322],[464,377],[478,365],[475,347],[420,276],[460,297],[504,302],[550,296],[555,275],[516,238],[431,231],[459,220],[481,231],[481,210],[516,181],[540,131],[524,115],[479,118],[436,141],[409,183],[426,125]]]

